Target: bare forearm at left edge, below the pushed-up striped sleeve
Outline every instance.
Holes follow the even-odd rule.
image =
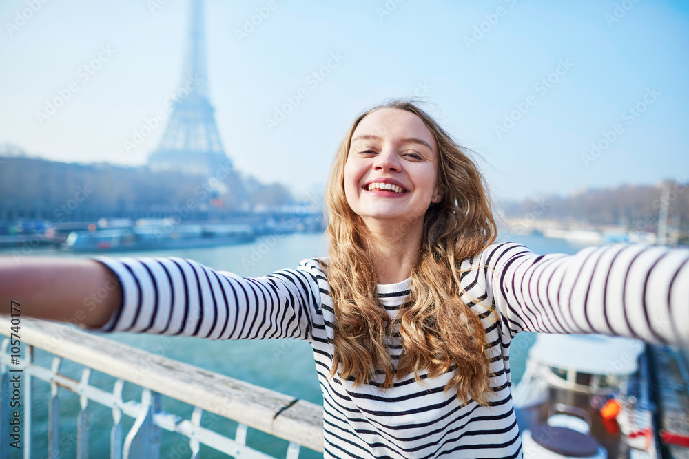
[[[23,316],[100,328],[122,302],[110,270],[90,259],[0,257],[0,314],[12,301]]]

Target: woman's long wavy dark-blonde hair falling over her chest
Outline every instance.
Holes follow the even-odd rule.
[[[376,273],[365,248],[366,228],[345,198],[345,162],[359,122],[373,111],[410,111],[426,124],[438,145],[438,179],[442,202],[424,217],[422,247],[411,273],[411,293],[398,315],[402,354],[395,368],[385,343],[389,317],[376,292]],[[470,396],[485,405],[490,391],[490,363],[485,352],[484,326],[462,301],[460,264],[495,240],[497,228],[484,179],[462,147],[431,116],[407,100],[392,100],[360,115],[342,140],[327,184],[325,204],[330,239],[327,277],[333,295],[333,367],[355,385],[371,383],[384,374],[382,387],[393,387],[395,376],[427,370],[433,378],[454,374],[446,390],[456,387],[466,402]],[[400,229],[404,231],[404,228]]]

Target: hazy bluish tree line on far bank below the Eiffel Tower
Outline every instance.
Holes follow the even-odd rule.
[[[0,220],[17,217],[76,221],[79,215],[130,217],[172,213],[250,212],[294,204],[282,184],[263,184],[235,169],[216,177],[147,167],[72,164],[0,155]],[[13,218],[14,217],[14,218]]]

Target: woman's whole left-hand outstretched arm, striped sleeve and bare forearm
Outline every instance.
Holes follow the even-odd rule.
[[[322,328],[316,264],[247,278],[178,257],[0,257],[0,313],[17,301],[22,315],[99,332],[310,340]]]

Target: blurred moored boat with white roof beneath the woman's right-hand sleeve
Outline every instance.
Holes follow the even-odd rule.
[[[682,365],[657,359],[663,349],[621,337],[539,334],[513,393],[524,458],[689,458],[689,386],[679,389],[686,398],[659,398],[655,378],[686,376]]]

